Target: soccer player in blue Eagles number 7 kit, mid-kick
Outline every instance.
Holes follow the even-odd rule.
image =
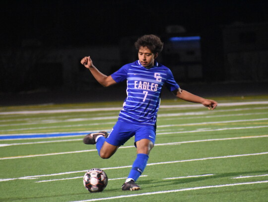
[[[156,117],[164,84],[180,99],[200,103],[211,110],[217,106],[214,100],[204,99],[182,90],[174,80],[171,70],[157,63],[156,58],[163,49],[159,37],[144,35],[138,38],[134,45],[138,50],[138,60],[124,65],[109,76],[101,73],[93,65],[90,57],[81,60],[81,64],[105,87],[127,80],[127,98],[110,134],[91,133],[84,137],[83,142],[96,144],[100,157],[110,158],[118,147],[134,136],[137,155],[129,176],[122,185],[122,190],[131,191],[140,190],[135,182],[144,171],[148,155],[154,146]]]

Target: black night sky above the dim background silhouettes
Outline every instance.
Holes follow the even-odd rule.
[[[0,45],[117,44],[125,36],[161,36],[167,25],[199,33],[234,21],[268,22],[267,10],[267,0],[4,0]]]

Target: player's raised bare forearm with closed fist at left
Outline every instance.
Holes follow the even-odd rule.
[[[88,68],[90,70],[90,72],[92,73],[92,75],[94,76],[94,78],[104,87],[108,87],[110,85],[113,85],[116,83],[116,81],[112,78],[112,76],[107,76],[105,74],[103,74],[102,72],[100,72],[92,63],[91,58],[88,57],[84,57],[81,60],[81,64],[83,66],[85,66],[86,68]]]

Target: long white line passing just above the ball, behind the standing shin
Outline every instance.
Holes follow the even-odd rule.
[[[210,159],[256,156],[256,155],[265,155],[265,154],[268,154],[268,152],[251,153],[251,154],[237,154],[237,155],[228,155],[228,156],[215,156],[215,157],[206,157],[206,158],[197,158],[197,159],[185,159],[185,160],[178,160],[178,161],[165,161],[165,162],[149,163],[149,164],[147,164],[147,166],[170,164],[170,163],[183,163],[183,162],[191,162],[191,161],[203,161],[203,160],[210,160]],[[108,168],[100,168],[100,169],[101,170],[113,170],[113,169],[131,168],[131,167],[132,167],[132,165],[118,166],[118,167],[108,167]],[[70,171],[70,172],[65,172],[65,173],[54,173],[54,174],[47,174],[47,175],[24,176],[24,177],[19,177],[19,178],[10,178],[10,179],[0,179],[0,182],[2,182],[2,181],[10,181],[10,180],[17,180],[17,179],[21,179],[21,180],[36,179],[36,178],[40,178],[40,177],[66,175],[66,174],[81,173],[81,172],[86,172],[86,171],[88,171],[88,170]]]

